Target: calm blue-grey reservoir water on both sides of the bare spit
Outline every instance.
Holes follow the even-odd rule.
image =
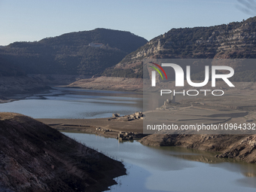
[[[19,99],[24,96],[17,96]],[[54,88],[0,104],[0,111],[35,118],[96,118],[142,111],[139,93]],[[152,148],[83,133],[64,133],[110,157],[123,160],[127,174],[111,191],[251,192],[256,191],[256,165],[218,159],[215,154],[184,148]]]

